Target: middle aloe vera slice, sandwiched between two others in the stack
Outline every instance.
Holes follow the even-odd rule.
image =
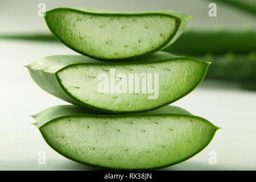
[[[200,84],[208,66],[191,57],[158,52],[127,63],[49,56],[27,68],[43,90],[71,104],[129,113],[156,109],[185,96]]]

